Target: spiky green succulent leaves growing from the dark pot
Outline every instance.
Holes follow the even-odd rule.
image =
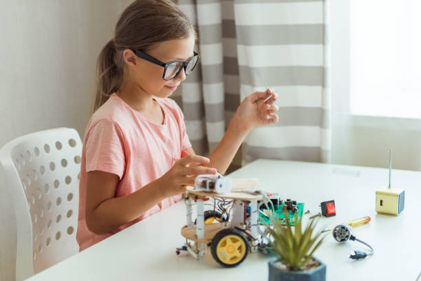
[[[300,271],[312,262],[313,253],[320,247],[325,235],[322,236],[322,231],[315,231],[316,218],[313,218],[302,232],[302,220],[298,221],[298,214],[294,217],[294,226],[290,225],[287,211],[284,211],[284,215],[286,225],[282,225],[279,220],[271,220],[272,226],[268,227],[268,232],[273,238],[270,247],[290,271]]]

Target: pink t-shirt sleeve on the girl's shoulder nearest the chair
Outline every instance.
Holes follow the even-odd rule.
[[[101,120],[91,127],[85,145],[86,171],[106,171],[120,179],[125,171],[124,136],[115,121]]]

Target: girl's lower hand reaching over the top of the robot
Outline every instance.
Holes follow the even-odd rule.
[[[160,188],[166,198],[182,194],[186,185],[194,185],[197,175],[217,174],[215,168],[206,167],[209,158],[190,155],[177,160],[173,167],[160,178]]]

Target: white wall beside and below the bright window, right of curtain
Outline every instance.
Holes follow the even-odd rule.
[[[349,116],[349,24],[349,0],[330,1],[332,163],[388,167],[392,149],[393,167],[420,171],[420,120]]]

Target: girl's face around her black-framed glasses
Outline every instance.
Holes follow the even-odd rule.
[[[194,37],[187,37],[185,39],[175,39],[157,43],[144,52],[163,63],[169,61],[186,61],[193,56],[194,45]],[[184,79],[186,79],[186,74],[184,73],[184,69],[182,69],[174,79],[166,81],[162,79],[164,67],[141,59],[136,55],[134,55],[133,59],[136,60],[136,62],[128,63],[132,81],[134,81],[140,89],[152,96],[166,98],[177,89],[177,86],[180,85]]]

